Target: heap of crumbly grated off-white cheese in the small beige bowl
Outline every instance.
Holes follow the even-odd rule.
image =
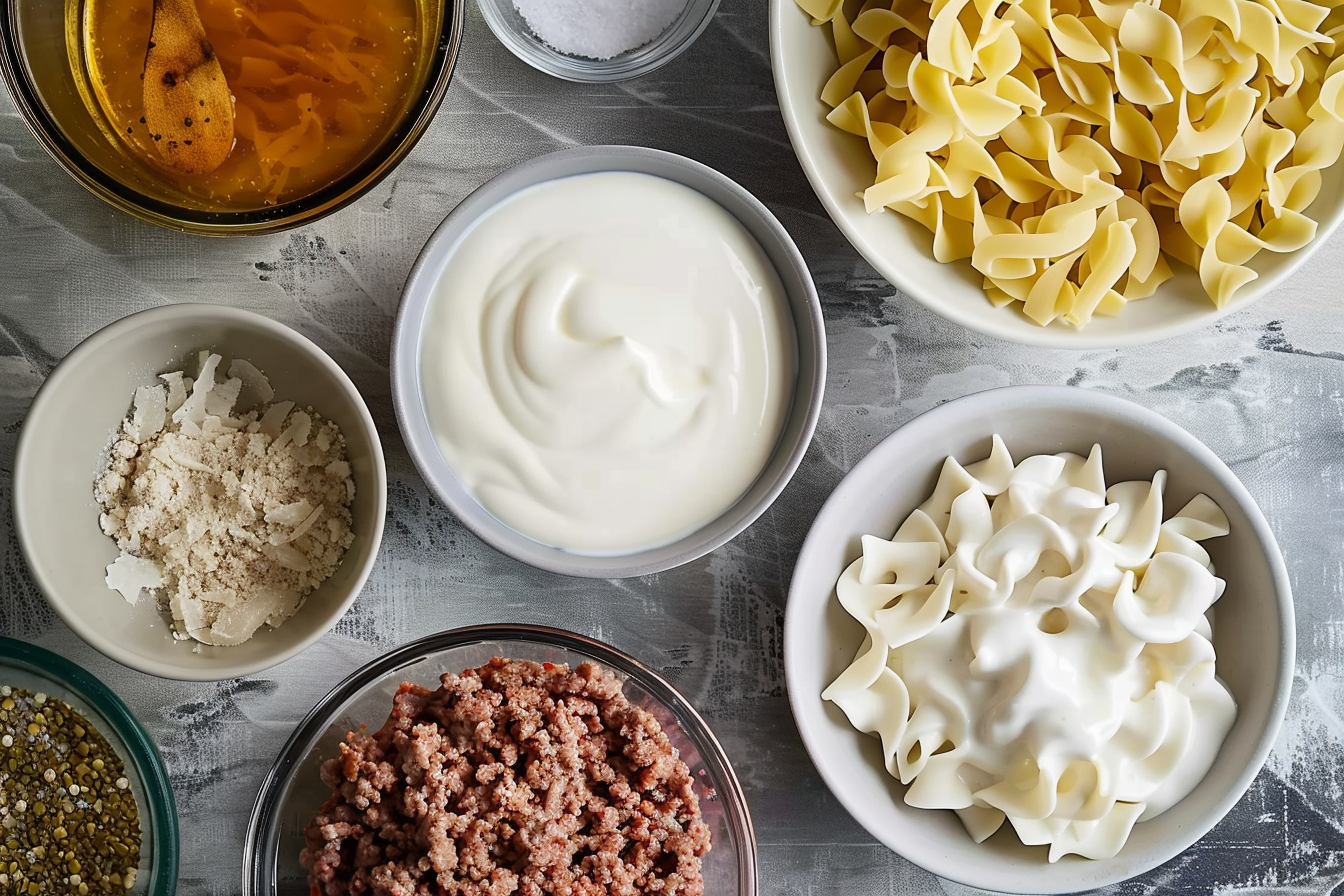
[[[153,592],[179,639],[231,646],[292,617],[336,571],[355,540],[355,482],[335,423],[271,404],[261,371],[220,361],[203,353],[195,379],[136,390],[94,497],[122,551],[108,587],[132,604]],[[239,414],[239,396],[255,406]]]

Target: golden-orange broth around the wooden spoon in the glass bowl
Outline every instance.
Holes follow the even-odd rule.
[[[196,0],[234,95],[235,144],[208,175],[168,168],[144,125],[153,0],[82,0],[79,59],[97,118],[168,201],[249,211],[332,184],[368,157],[421,91],[434,0]],[[90,101],[86,97],[86,102]]]

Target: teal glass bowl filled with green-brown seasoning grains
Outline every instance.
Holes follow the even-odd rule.
[[[0,638],[0,893],[176,889],[177,807],[153,740],[87,672]]]

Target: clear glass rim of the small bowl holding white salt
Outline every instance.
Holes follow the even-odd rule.
[[[509,0],[503,1],[508,3]],[[677,13],[677,17],[672,20],[672,24],[669,24],[663,34],[642,47],[636,47],[624,54],[618,54],[612,59],[585,59],[579,56],[570,56],[569,54],[554,50],[542,42],[540,38],[538,38],[538,42],[542,46],[534,46],[527,40],[527,38],[516,34],[513,28],[504,21],[503,16],[496,11],[493,0],[476,0],[476,4],[481,11],[481,17],[485,19],[485,24],[489,26],[499,42],[508,47],[509,52],[540,73],[548,74],[552,78],[574,81],[578,83],[612,83],[616,81],[638,78],[640,75],[646,75],[656,69],[661,69],[680,56],[692,43],[696,42],[696,39],[699,39],[704,30],[710,27],[715,12],[719,9],[719,0],[710,0],[708,5],[700,13],[700,20],[696,23],[694,31],[687,32],[675,43],[665,42],[669,32],[676,30],[676,27],[683,21],[683,16],[687,15],[687,11],[691,9],[695,3],[696,0],[687,0],[685,8]]]

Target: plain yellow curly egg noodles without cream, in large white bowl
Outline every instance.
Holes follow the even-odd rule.
[[[797,0],[831,23],[828,120],[867,138],[870,212],[969,258],[1044,325],[1152,296],[1169,261],[1222,306],[1344,146],[1344,12],[1306,0]]]

